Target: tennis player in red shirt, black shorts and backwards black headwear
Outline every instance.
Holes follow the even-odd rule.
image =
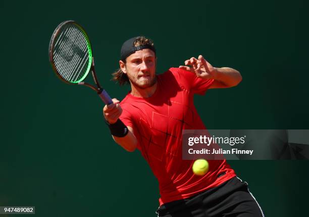
[[[131,92],[105,106],[111,134],[127,151],[140,150],[159,181],[158,216],[263,216],[247,184],[236,178],[226,160],[209,160],[204,176],[182,160],[182,129],[205,129],[193,104],[194,94],[229,88],[242,77],[232,68],[215,68],[201,55],[156,75],[156,49],[145,37],[121,48],[120,69],[113,74]]]

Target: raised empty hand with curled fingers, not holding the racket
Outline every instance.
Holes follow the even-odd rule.
[[[199,55],[198,59],[191,57],[184,63],[187,66],[179,66],[179,68],[193,72],[197,77],[200,78],[216,79],[216,68],[207,62],[202,55]]]

